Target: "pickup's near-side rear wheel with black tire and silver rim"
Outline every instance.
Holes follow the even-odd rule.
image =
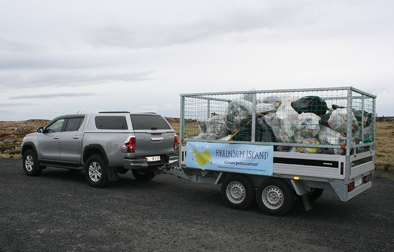
[[[85,177],[88,184],[92,187],[101,188],[109,183],[107,163],[102,155],[92,155],[87,159]]]

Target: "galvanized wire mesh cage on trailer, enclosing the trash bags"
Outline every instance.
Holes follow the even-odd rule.
[[[285,152],[372,151],[375,101],[353,87],[181,94],[180,137]]]

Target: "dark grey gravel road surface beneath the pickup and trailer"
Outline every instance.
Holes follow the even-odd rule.
[[[83,172],[47,168],[26,176],[21,159],[0,159],[0,252],[6,251],[394,251],[394,180],[377,174],[363,194],[331,191],[306,212],[273,217],[257,204],[227,208],[219,185],[173,175],[106,188]]]

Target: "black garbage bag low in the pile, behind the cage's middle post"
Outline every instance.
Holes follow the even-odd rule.
[[[242,127],[234,136],[235,141],[252,141],[252,123],[248,123],[249,119],[242,120]],[[276,142],[275,135],[271,127],[262,118],[256,119],[256,142]]]

